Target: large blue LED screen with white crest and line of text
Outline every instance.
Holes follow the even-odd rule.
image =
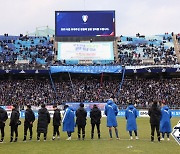
[[[55,35],[115,36],[115,11],[56,11]]]

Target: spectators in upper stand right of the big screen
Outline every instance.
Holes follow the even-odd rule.
[[[152,38],[137,34],[136,37],[121,36],[118,43],[117,63],[123,65],[142,65],[150,59],[151,64],[178,64],[172,36],[168,33]]]

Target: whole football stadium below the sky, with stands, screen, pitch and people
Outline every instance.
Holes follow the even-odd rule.
[[[119,35],[116,12],[0,34],[1,154],[179,153],[180,33]]]

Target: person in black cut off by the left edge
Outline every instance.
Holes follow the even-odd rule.
[[[1,108],[0,106],[0,130],[1,130],[1,140],[0,143],[4,141],[4,128],[5,128],[5,122],[8,119],[8,115],[6,110]]]

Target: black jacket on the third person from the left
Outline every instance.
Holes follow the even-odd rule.
[[[34,112],[31,109],[26,109],[24,125],[25,126],[32,125],[31,123],[33,123],[34,120],[35,120]]]

